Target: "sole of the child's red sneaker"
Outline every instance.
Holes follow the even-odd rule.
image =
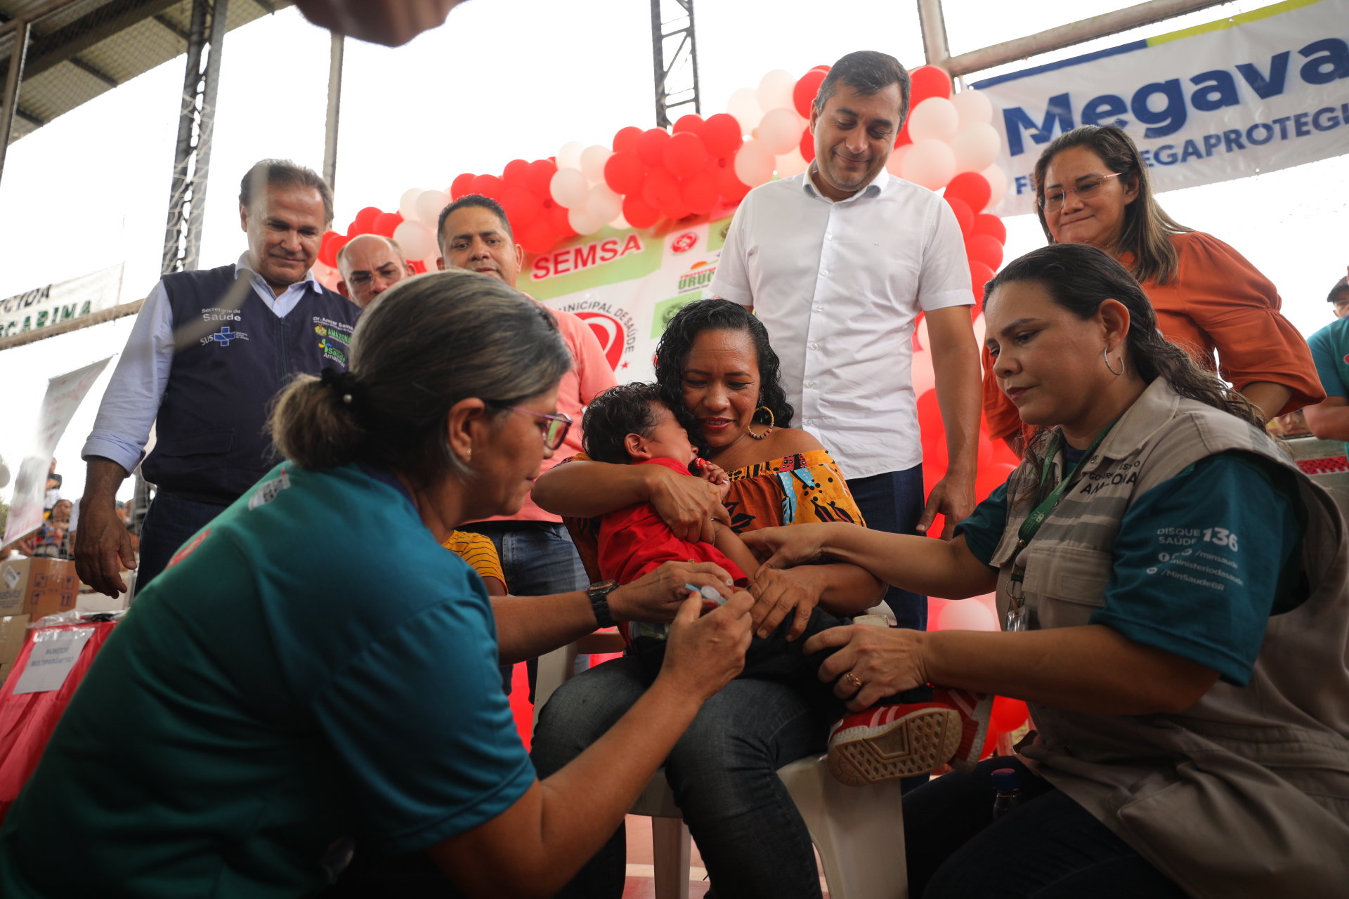
[[[960,713],[920,709],[882,728],[830,745],[830,774],[850,787],[909,778],[947,763],[960,748]]]

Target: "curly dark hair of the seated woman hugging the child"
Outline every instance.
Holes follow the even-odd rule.
[[[706,330],[739,330],[750,336],[759,369],[759,406],[773,410],[773,423],[777,427],[791,427],[796,410],[786,402],[782,380],[778,376],[777,353],[768,342],[764,322],[750,310],[728,299],[695,299],[674,313],[665,328],[661,342],[656,346],[656,383],[660,384],[664,402],[673,410],[684,410],[684,363],[693,349],[693,341]],[[754,422],[768,425],[766,412],[754,410]],[[693,443],[706,450],[701,431],[691,431]]]

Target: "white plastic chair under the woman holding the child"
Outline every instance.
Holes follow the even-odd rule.
[[[867,613],[884,616],[889,611],[882,602]],[[572,678],[575,659],[575,643],[538,659],[536,725],[538,710],[557,687]],[[778,768],[777,776],[786,784],[811,833],[811,842],[820,853],[830,899],[908,899],[898,780],[866,787],[844,786],[828,772],[823,755]],[[652,775],[629,814],[652,819],[656,899],[688,899],[691,838],[665,780],[665,768]]]

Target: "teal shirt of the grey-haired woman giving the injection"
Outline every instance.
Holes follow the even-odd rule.
[[[0,895],[314,895],[534,782],[482,580],[387,472],[272,469],[113,631],[0,830]]]

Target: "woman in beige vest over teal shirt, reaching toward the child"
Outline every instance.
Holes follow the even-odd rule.
[[[1349,891],[1349,547],[1260,414],[1156,330],[1129,272],[1056,244],[992,283],[998,385],[1031,453],[950,542],[804,524],[769,565],[997,590],[1002,632],[846,627],[854,709],[919,683],[1025,700],[1033,739],[905,797],[913,896]],[[870,735],[890,745],[884,728]],[[1020,803],[993,819],[992,772]]]

